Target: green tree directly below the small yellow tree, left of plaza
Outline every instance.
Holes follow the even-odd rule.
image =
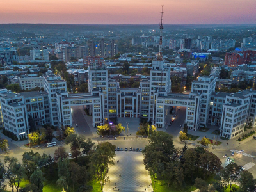
[[[70,150],[72,157],[77,157],[81,155],[81,145],[84,142],[84,136],[77,136],[77,134],[70,134],[67,136],[65,143],[70,144]]]

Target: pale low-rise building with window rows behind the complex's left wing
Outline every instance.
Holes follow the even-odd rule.
[[[19,77],[21,90],[31,90],[33,88],[44,88],[44,77]]]

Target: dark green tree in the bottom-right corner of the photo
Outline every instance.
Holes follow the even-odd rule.
[[[238,179],[238,182],[240,183],[240,188],[239,192],[244,192],[244,191],[253,191],[255,189],[255,184],[256,181],[253,178],[252,173],[248,171],[243,171],[240,174],[240,178]]]

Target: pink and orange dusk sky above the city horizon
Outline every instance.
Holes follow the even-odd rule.
[[[255,24],[255,0],[0,0],[0,23]]]

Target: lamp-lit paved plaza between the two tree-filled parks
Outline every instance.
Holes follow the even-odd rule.
[[[115,165],[110,167],[108,176],[110,182],[104,185],[104,192],[118,191],[118,188],[126,192],[153,191],[141,152],[116,152]]]

